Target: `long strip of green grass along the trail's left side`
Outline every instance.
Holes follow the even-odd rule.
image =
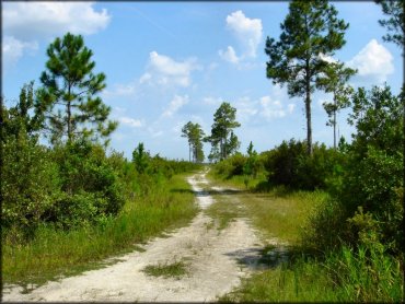
[[[76,231],[40,227],[25,245],[2,244],[3,283],[40,284],[48,280],[103,267],[111,256],[135,250],[167,229],[187,224],[197,213],[195,197],[185,180],[175,175],[146,197],[128,201],[116,218]],[[182,192],[171,189],[185,189]]]

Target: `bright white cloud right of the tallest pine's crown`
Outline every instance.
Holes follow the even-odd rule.
[[[358,69],[358,77],[370,82],[384,82],[394,72],[393,56],[375,39],[371,39],[347,65]]]

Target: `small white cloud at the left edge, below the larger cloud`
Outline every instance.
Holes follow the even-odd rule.
[[[12,36],[3,37],[2,42],[2,60],[5,70],[14,66],[19,59],[27,51],[38,49],[38,44],[35,42],[24,43],[15,39]]]

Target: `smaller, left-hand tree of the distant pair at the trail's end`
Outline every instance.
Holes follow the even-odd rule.
[[[202,139],[205,133],[201,126],[199,124],[188,121],[182,128],[182,137],[186,137],[188,139],[189,161],[192,161],[193,154],[194,162],[202,162],[205,159],[202,150]]]

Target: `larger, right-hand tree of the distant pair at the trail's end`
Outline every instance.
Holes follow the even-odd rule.
[[[236,121],[236,108],[229,103],[222,103],[213,114],[211,135],[206,138],[212,148],[219,145],[220,160],[227,159],[239,149],[240,142],[233,129],[240,126]]]

